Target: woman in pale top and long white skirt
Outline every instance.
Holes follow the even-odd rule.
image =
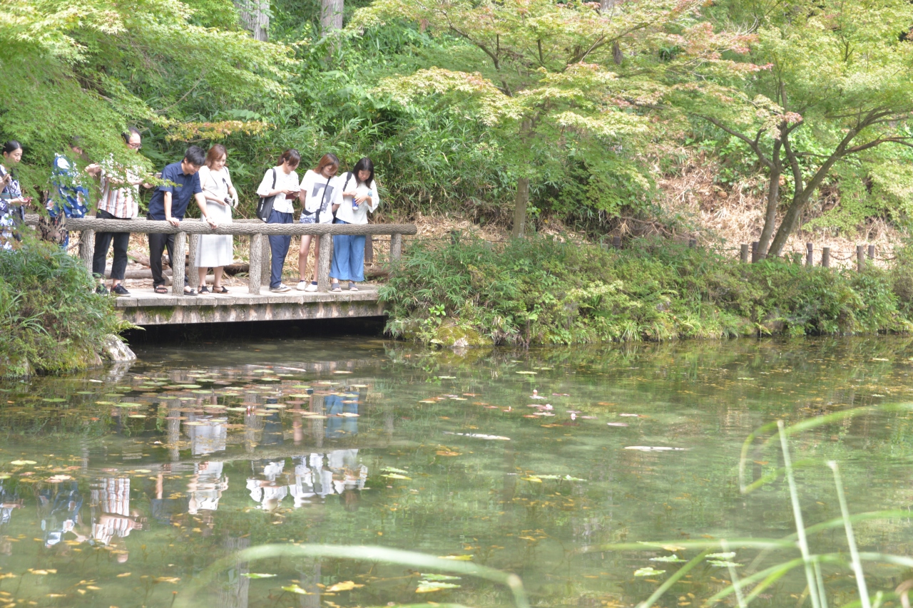
[[[216,225],[231,224],[232,207],[237,206],[237,191],[231,183],[226,159],[228,154],[221,143],[216,143],[206,154],[206,163],[200,167],[200,187],[206,199],[205,209],[200,205],[204,219],[215,221]],[[200,235],[196,246],[196,260],[200,278],[197,293],[208,293],[206,288],[206,270],[213,269],[215,281],[213,293],[228,293],[222,286],[222,270],[235,261],[231,235]]]

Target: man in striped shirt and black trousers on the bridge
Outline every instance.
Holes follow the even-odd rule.
[[[134,153],[142,148],[140,131],[131,128],[122,133],[123,141]],[[140,198],[142,179],[136,170],[121,167],[116,169],[112,163],[106,167],[101,176],[101,198],[99,210],[95,215],[99,219],[136,219],[140,213],[137,201]],[[111,262],[111,291],[119,296],[130,295],[121,285],[127,270],[127,246],[130,245],[129,232],[99,232],[95,234],[95,253],[92,255],[92,274],[100,278],[99,293],[108,293],[105,288],[105,265],[108,249],[114,243],[114,260]]]

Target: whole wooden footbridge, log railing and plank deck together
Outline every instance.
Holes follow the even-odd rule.
[[[37,222],[30,216],[27,223]],[[184,264],[172,265],[172,293],[157,294],[149,289],[131,288],[131,295],[115,300],[114,307],[124,320],[136,325],[181,323],[215,323],[255,320],[340,319],[377,317],[383,315],[383,303],[375,286],[363,285],[359,291],[330,291],[330,260],[333,235],[390,235],[388,262],[395,264],[403,251],[403,236],[415,235],[412,224],[264,224],[258,219],[235,220],[215,228],[195,219],[184,219],[180,225],[145,219],[116,220],[84,217],[68,219],[69,231],[79,235],[79,257],[91,271],[96,232],[163,233],[174,235],[174,258],[183,260],[189,248],[193,266],[199,235],[245,235],[250,237],[250,269],[247,293],[233,290],[226,295],[184,295]],[[268,236],[311,235],[320,238],[317,258],[318,286],[316,292],[292,290],[272,293],[269,284],[270,251]],[[189,243],[188,243],[188,236]],[[261,293],[266,291],[266,293]]]

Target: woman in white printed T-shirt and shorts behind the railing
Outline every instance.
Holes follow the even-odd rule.
[[[317,167],[310,169],[301,178],[299,197],[304,204],[301,212],[301,224],[332,224],[333,209],[342,202],[342,191],[336,173],[340,170],[340,160],[336,154],[324,154]],[[320,256],[320,239],[314,239],[314,280],[308,283],[305,269],[308,266],[310,235],[301,236],[301,248],[298,254],[298,288],[301,291],[317,291],[317,260]]]

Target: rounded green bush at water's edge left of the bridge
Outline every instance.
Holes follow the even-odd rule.
[[[79,259],[28,236],[0,249],[0,376],[64,372],[100,362],[122,322]]]

